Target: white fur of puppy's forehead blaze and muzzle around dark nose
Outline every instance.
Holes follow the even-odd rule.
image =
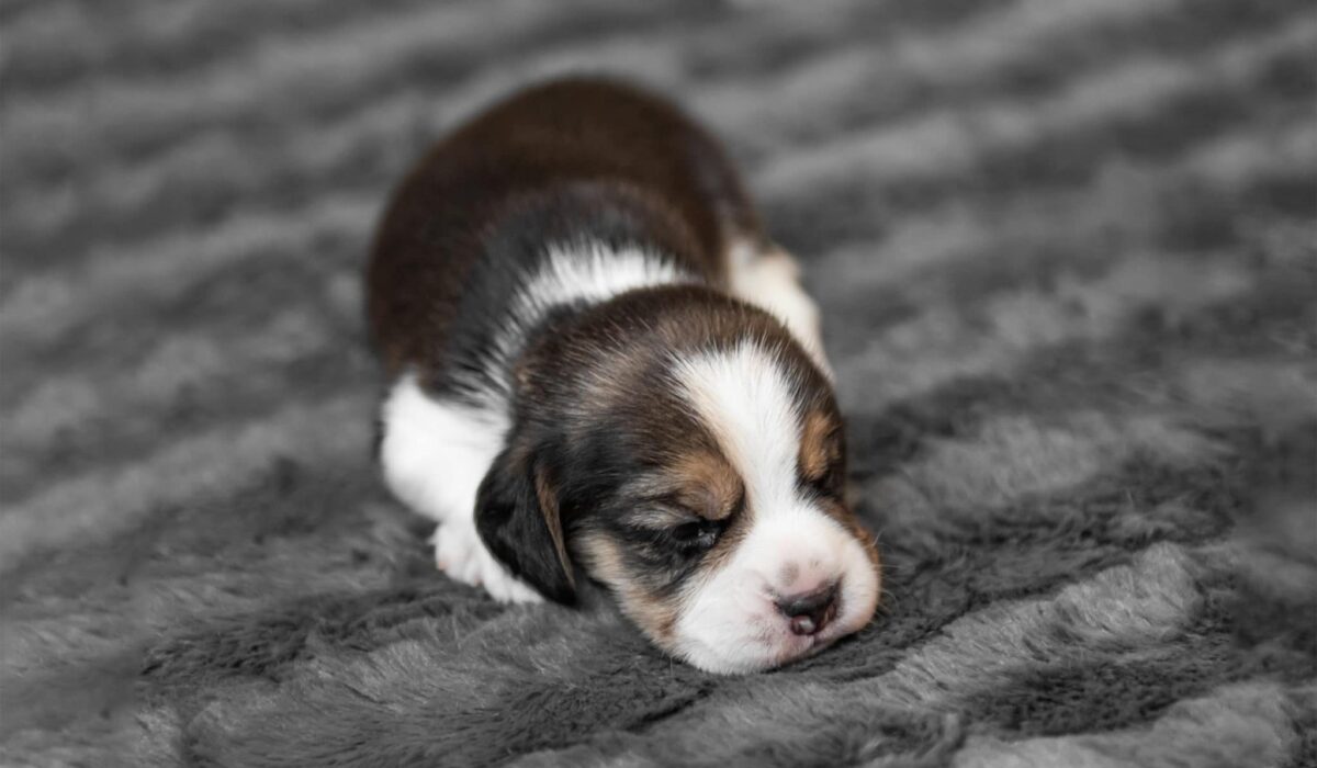
[[[711,672],[776,667],[868,623],[878,576],[864,548],[797,489],[801,414],[773,352],[745,341],[681,360],[674,377],[745,482],[751,530],[731,561],[693,584],[677,619],[678,653]],[[789,572],[794,577],[784,581]],[[822,632],[790,632],[774,601],[840,582],[840,614]]]

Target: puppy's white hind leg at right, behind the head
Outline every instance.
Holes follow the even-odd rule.
[[[727,250],[727,266],[732,295],[781,320],[831,378],[819,308],[801,286],[801,269],[792,254],[776,245],[759,245],[740,237]]]

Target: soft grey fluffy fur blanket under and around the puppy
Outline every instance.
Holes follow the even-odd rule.
[[[0,761],[1312,765],[1303,1],[7,0]],[[516,84],[723,136],[886,590],[770,674],[435,572],[370,461],[389,188]]]

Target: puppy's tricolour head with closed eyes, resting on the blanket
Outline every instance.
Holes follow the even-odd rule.
[[[766,314],[630,294],[540,343],[516,403],[477,524],[545,595],[570,602],[579,565],[656,644],[724,673],[872,618],[877,553],[843,498],[831,385]]]

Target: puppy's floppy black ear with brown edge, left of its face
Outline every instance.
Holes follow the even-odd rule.
[[[576,602],[557,491],[548,474],[514,447],[499,453],[475,494],[475,530],[494,557],[544,597]]]

